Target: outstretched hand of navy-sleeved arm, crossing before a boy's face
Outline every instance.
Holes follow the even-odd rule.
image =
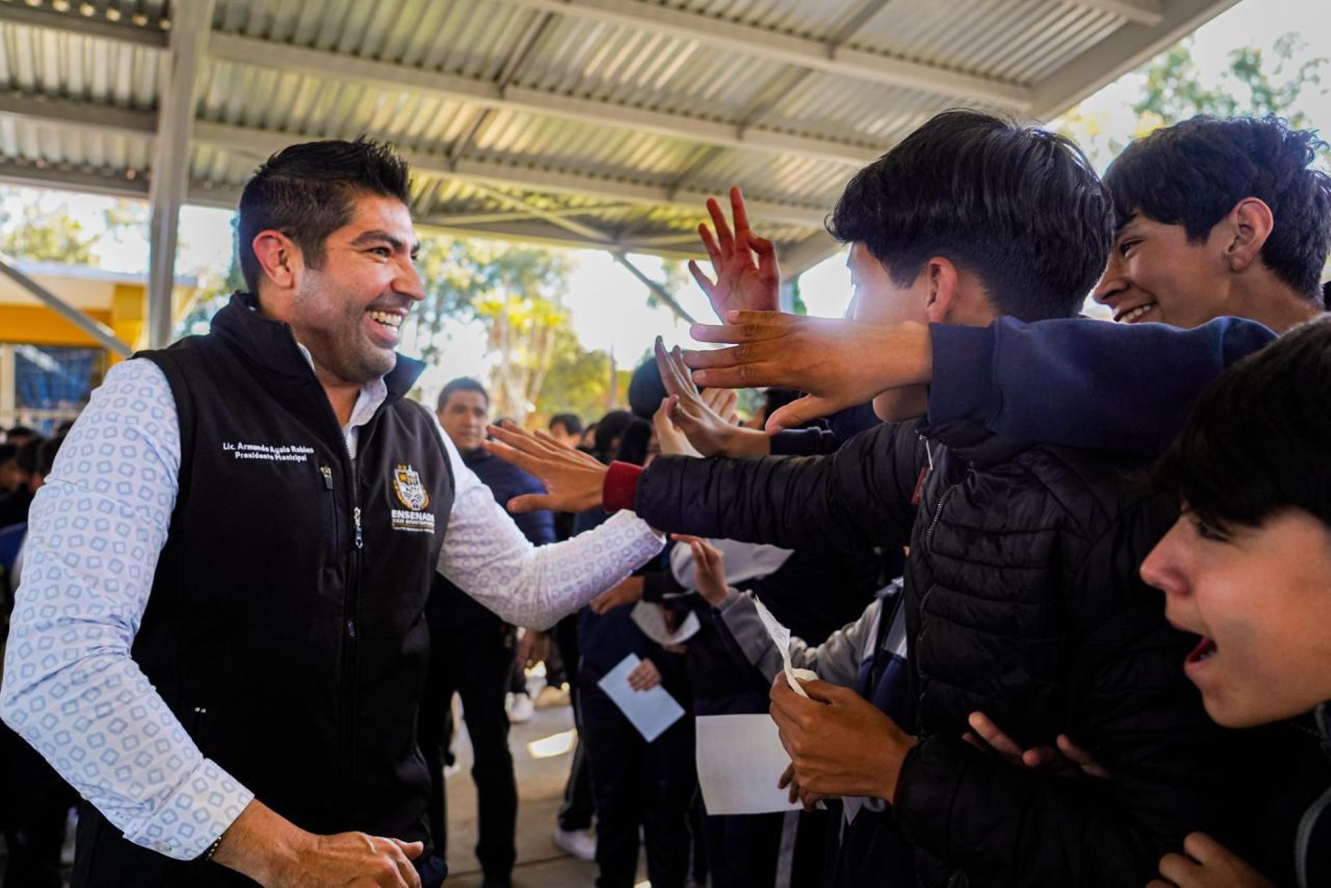
[[[861,324],[780,312],[729,312],[727,324],[697,324],[699,342],[728,349],[685,351],[700,386],[781,386],[807,391],[767,419],[767,431],[872,401],[876,395],[929,382],[933,349],[924,324]]]

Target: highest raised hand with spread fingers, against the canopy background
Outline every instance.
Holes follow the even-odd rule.
[[[703,222],[697,233],[703,246],[712,260],[712,281],[692,260],[688,270],[693,280],[707,293],[716,317],[724,318],[733,309],[755,312],[775,312],[779,308],[781,289],[781,269],[776,265],[776,248],[772,241],[755,237],[748,226],[748,213],[744,209],[744,196],[739,188],[731,188],[731,213],[735,216],[735,233],[725,224],[725,213],[716,198],[707,198],[707,212],[716,225],[716,236]]]

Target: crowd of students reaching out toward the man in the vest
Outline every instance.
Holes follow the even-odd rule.
[[[579,728],[556,836],[600,888],[635,883],[640,843],[656,888],[1331,884],[1319,149],[1197,117],[1101,177],[1046,129],[944,112],[829,216],[847,318],[777,310],[779,257],[732,190],[700,229],[712,273],[691,266],[720,320],[693,337],[727,347],[658,343],[631,410],[587,429],[487,429],[482,386],[445,389],[461,465],[530,543],[622,510],[672,541],[552,632]],[[1114,324],[1078,317],[1087,293]],[[757,603],[816,679],[791,686]],[[642,606],[699,628],[654,639]],[[503,695],[526,655],[463,583],[435,576],[425,618],[415,869],[445,869],[457,690],[478,856],[511,884]],[[650,742],[604,688],[628,655],[635,690],[689,712]],[[804,812],[712,816],[689,719],[761,712]]]

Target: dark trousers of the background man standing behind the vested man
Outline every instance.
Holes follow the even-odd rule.
[[[487,614],[488,615],[488,614]],[[488,615],[492,616],[492,615]],[[438,631],[434,627],[438,626]],[[491,876],[507,876],[516,859],[518,784],[508,752],[504,694],[514,663],[512,628],[499,618],[433,624],[430,671],[421,703],[418,739],[430,768],[430,836],[439,857],[449,847],[443,762],[449,707],[462,695],[476,781],[476,857]]]

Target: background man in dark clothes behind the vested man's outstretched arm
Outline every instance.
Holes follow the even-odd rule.
[[[475,379],[459,378],[439,393],[439,425],[447,433],[462,462],[490,487],[495,502],[544,493],[544,487],[522,469],[495,459],[480,449],[490,422],[490,394]],[[548,511],[514,517],[532,545],[555,542],[554,518]],[[512,884],[516,859],[514,831],[518,817],[518,784],[508,751],[508,716],[504,694],[516,668],[515,628],[478,604],[470,595],[437,576],[426,604],[430,624],[430,671],[421,702],[421,750],[430,766],[430,827],[435,853],[447,851],[447,799],[443,764],[451,731],[447,730],[454,692],[461,694],[467,735],[471,738],[471,776],[476,781],[476,859],[484,871],[486,888]]]

